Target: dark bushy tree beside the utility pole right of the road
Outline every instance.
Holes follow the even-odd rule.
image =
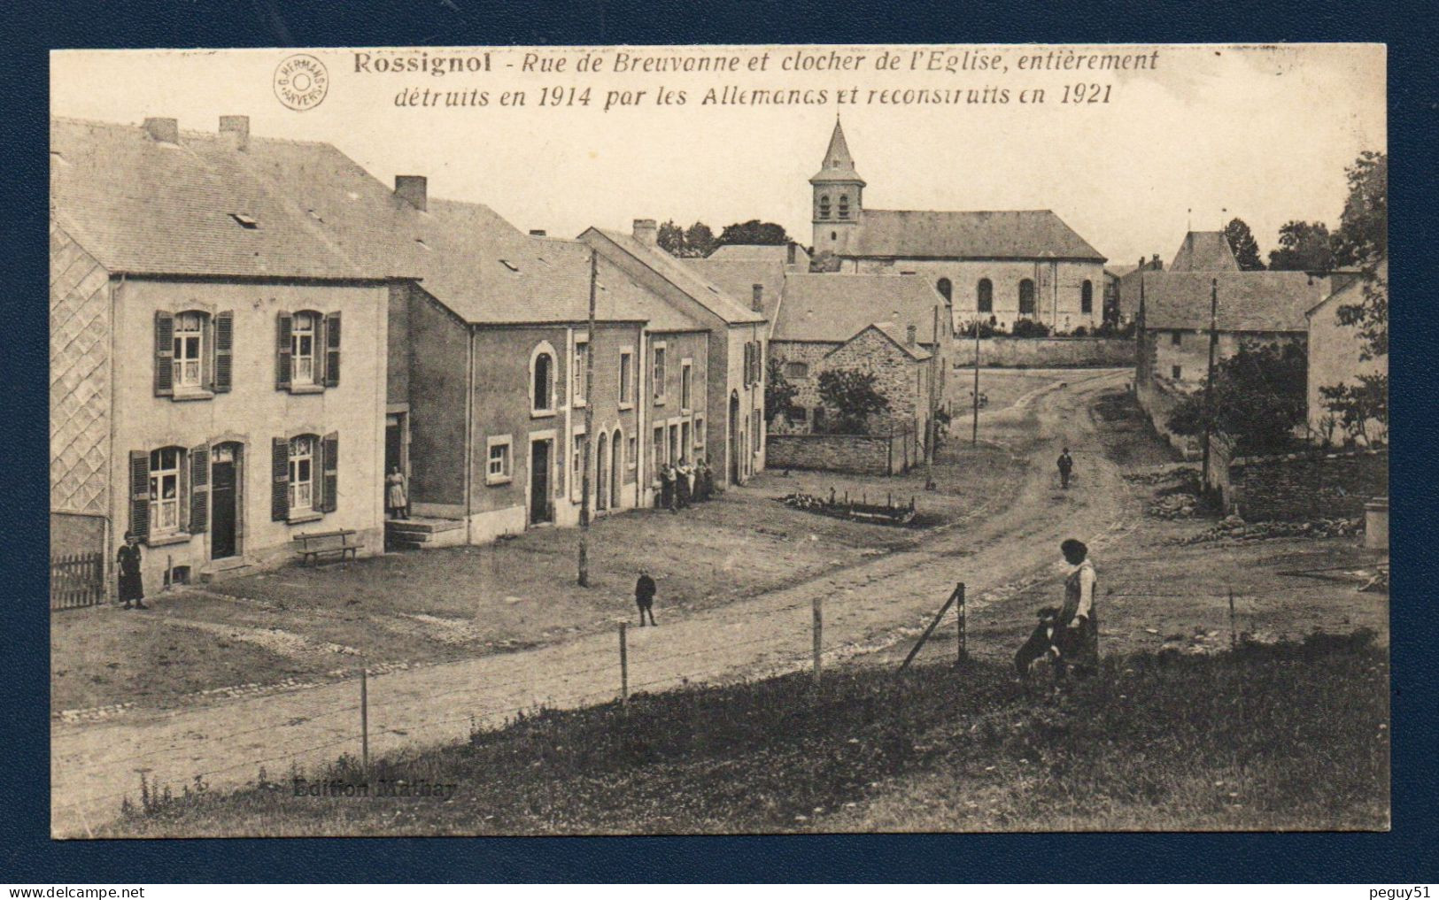
[[[1184,397],[1170,413],[1168,427],[1179,434],[1223,431],[1240,453],[1279,453],[1292,443],[1304,423],[1308,359],[1295,344],[1240,346],[1215,365],[1212,411],[1204,392]]]

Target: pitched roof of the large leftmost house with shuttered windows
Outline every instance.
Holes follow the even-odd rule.
[[[409,275],[331,246],[217,135],[50,119],[50,208],[111,272],[360,279]],[[248,227],[252,224],[253,227]]]

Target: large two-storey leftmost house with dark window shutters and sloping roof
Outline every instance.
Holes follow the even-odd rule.
[[[383,548],[412,273],[322,240],[253,144],[239,116],[50,125],[52,546],[109,561],[132,531],[151,589],[292,559],[299,533]]]

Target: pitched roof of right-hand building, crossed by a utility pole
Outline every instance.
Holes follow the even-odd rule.
[[[1219,331],[1307,331],[1304,313],[1328,279],[1304,272],[1138,272],[1144,326],[1207,329],[1210,282],[1219,282]]]

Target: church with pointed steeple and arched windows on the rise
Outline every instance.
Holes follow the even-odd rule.
[[[1058,334],[1102,322],[1105,257],[1053,210],[868,208],[837,119],[810,185],[814,257],[839,272],[927,276],[955,331],[976,319],[1006,331],[1030,319]]]

